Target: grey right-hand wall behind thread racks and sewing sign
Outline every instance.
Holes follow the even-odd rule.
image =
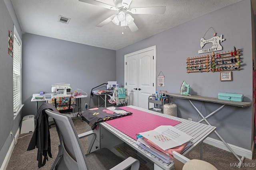
[[[214,27],[217,35],[222,34],[226,39],[221,43],[223,51],[220,52],[231,51],[234,45],[237,49],[242,49],[243,70],[232,71],[232,81],[221,82],[219,72],[186,73],[186,58],[200,56],[198,54],[198,50],[201,49],[200,39],[210,27]],[[213,37],[213,33],[214,31],[210,29],[205,39]],[[153,45],[156,45],[156,75],[162,71],[165,76],[165,87],[157,87],[157,91],[179,93],[180,85],[185,80],[190,84],[191,95],[217,98],[218,92],[236,92],[244,94],[244,101],[252,102],[253,49],[250,0],[211,12],[116,51],[116,79],[120,84],[124,84],[124,55]],[[204,49],[210,46],[208,44]],[[197,119],[198,113],[188,100],[172,98],[172,102],[178,106],[179,117]],[[204,115],[221,106],[207,102],[193,102]],[[253,107],[225,106],[208,120],[217,127],[218,133],[227,143],[251,150],[253,116]],[[210,137],[220,140],[215,134]]]

